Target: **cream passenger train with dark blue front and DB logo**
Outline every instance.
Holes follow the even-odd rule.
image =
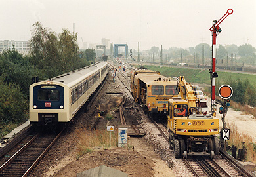
[[[108,74],[107,62],[30,85],[30,123],[59,125],[72,120]]]

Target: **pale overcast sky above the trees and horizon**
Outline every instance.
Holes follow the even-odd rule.
[[[255,0],[0,0],[0,40],[25,40],[31,37],[36,21],[60,33],[63,28],[78,33],[87,43],[127,43],[129,48],[152,46],[195,47],[211,45],[213,20],[229,8],[234,10],[222,23],[217,45],[256,47]]]

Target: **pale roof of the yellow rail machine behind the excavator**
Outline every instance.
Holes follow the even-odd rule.
[[[166,83],[171,83],[172,85],[177,85],[177,81],[173,81],[163,75],[157,73],[138,73],[135,75],[136,79],[140,79],[147,85],[166,85]]]

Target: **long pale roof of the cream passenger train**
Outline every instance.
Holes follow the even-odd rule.
[[[69,73],[64,73],[62,75],[58,75],[57,77],[47,79],[46,81],[41,81],[39,83],[52,81],[53,84],[68,85],[69,87],[72,87],[80,81],[83,81],[83,79],[90,77],[93,73],[99,71],[100,68],[103,68],[106,65],[107,62],[97,62],[96,64],[91,64],[90,66],[85,66],[84,68],[80,68]]]

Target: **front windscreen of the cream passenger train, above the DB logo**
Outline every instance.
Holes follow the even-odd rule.
[[[38,100],[58,101],[59,99],[60,99],[59,90],[51,90],[51,89],[39,89],[38,90]]]

